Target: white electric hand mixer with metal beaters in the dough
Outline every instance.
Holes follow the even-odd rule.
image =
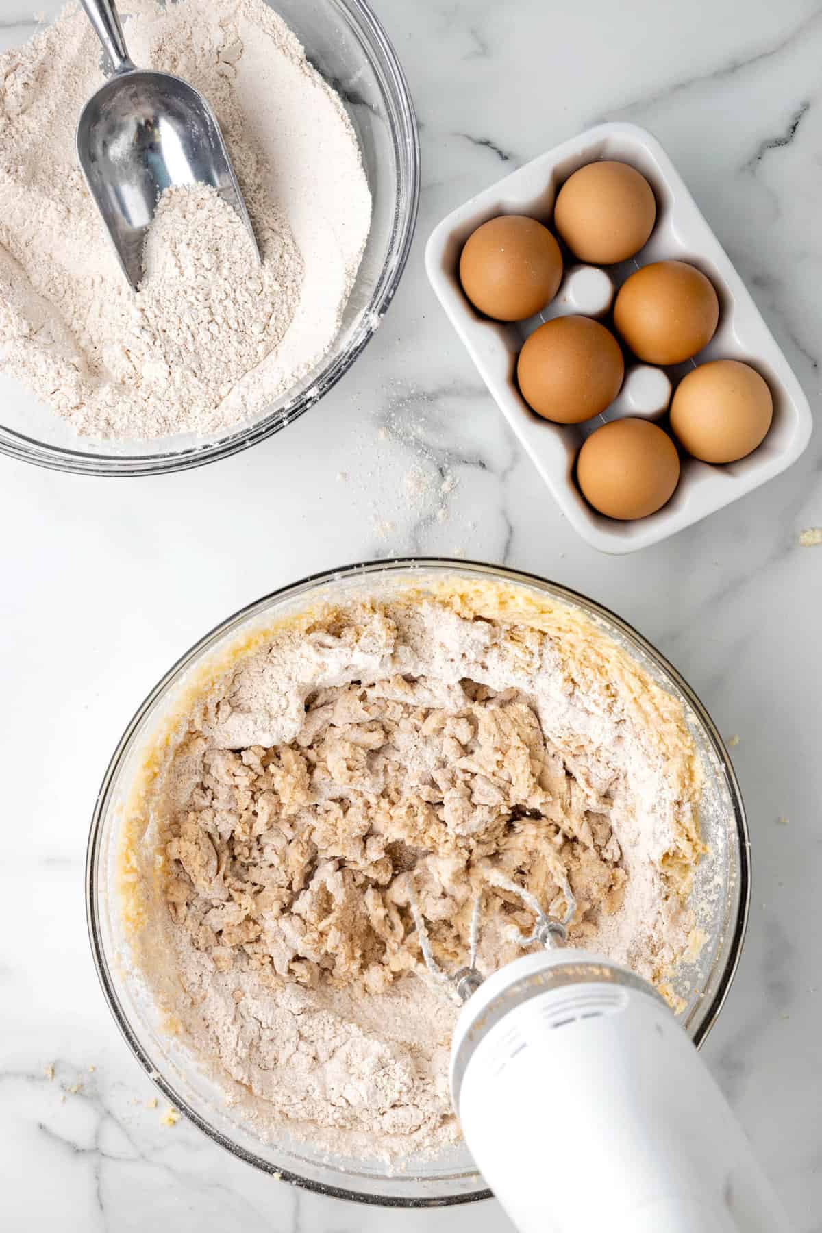
[[[563,948],[563,920],[535,914],[523,946],[484,979],[481,898],[468,965],[449,975],[412,910],[429,972],[465,1002],[451,1097],[466,1143],[520,1233],[786,1233],[787,1218],[699,1053],[635,973]]]

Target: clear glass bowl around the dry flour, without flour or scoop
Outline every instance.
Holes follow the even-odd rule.
[[[313,407],[351,367],[380,324],[408,258],[419,197],[417,121],[403,70],[365,0],[270,2],[295,31],[314,68],[343,99],[371,189],[371,232],[332,350],[262,416],[213,438],[80,438],[23,386],[0,374],[4,454],[85,475],[157,475],[213,462],[264,440]],[[120,7],[128,12],[127,0]],[[102,231],[100,243],[106,243]]]

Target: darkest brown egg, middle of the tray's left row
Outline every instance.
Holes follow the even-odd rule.
[[[590,317],[557,317],[525,339],[516,379],[529,407],[556,424],[579,424],[614,402],[625,364],[620,344]]]

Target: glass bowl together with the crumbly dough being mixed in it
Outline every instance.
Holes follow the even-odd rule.
[[[123,736],[89,846],[102,988],[165,1097],[260,1169],[366,1202],[483,1197],[423,962],[521,953],[515,883],[699,1044],[738,961],[742,801],[675,671],[542,580],[444,561],[227,620]]]

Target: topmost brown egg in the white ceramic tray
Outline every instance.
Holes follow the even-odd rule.
[[[566,180],[553,224],[580,261],[612,265],[638,253],[653,231],[657,202],[643,175],[627,163],[589,163]]]

